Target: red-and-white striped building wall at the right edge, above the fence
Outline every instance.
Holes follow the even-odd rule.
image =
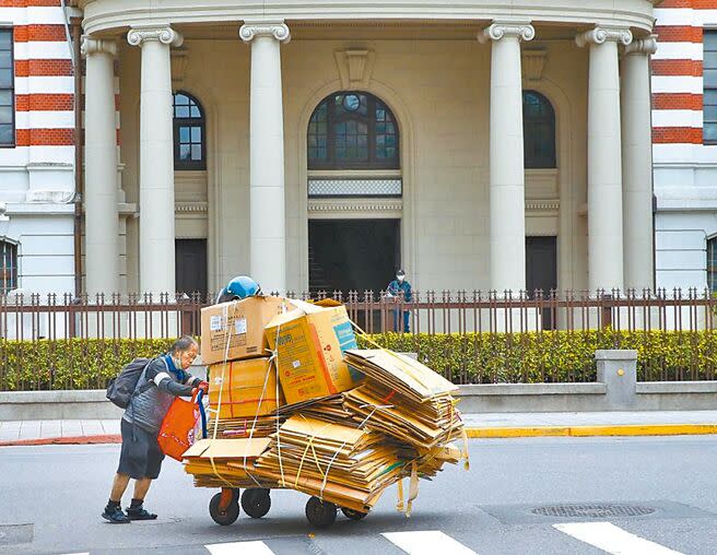
[[[717,291],[717,1],[666,0],[653,60],[657,285]]]

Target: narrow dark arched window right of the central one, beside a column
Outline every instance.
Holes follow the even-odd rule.
[[[555,110],[536,91],[522,92],[522,140],[526,169],[556,167]]]

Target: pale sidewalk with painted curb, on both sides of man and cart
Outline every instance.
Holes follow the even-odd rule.
[[[472,438],[717,434],[717,411],[463,414]],[[119,442],[119,420],[0,422],[0,446]]]

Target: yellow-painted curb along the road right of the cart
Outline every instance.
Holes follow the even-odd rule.
[[[470,427],[470,438],[701,436],[717,434],[717,424],[625,424],[604,426]]]

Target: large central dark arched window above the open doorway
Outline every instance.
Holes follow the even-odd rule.
[[[368,93],[334,93],[317,106],[307,134],[309,169],[398,169],[391,110]]]

